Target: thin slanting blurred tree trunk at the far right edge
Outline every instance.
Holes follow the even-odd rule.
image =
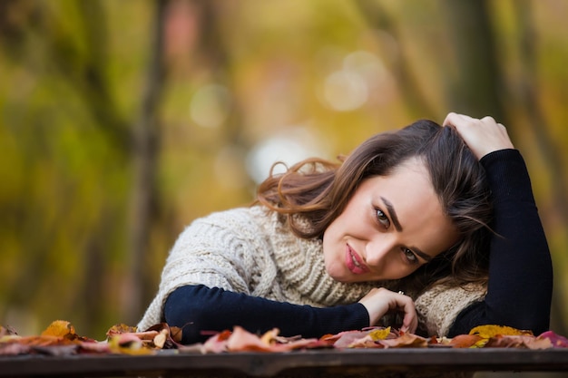
[[[538,82],[538,68],[535,62],[536,40],[537,35],[534,30],[534,22],[531,15],[531,2],[523,0],[514,6],[517,17],[517,24],[520,28],[519,35],[519,52],[521,56],[521,65],[523,72],[520,75],[521,82],[517,89],[516,95],[521,102],[520,109],[524,109],[526,113],[527,125],[531,128],[534,135],[534,141],[539,150],[539,155],[544,160],[552,181],[552,203],[555,209],[555,217],[562,219],[562,224],[568,224],[568,187],[566,186],[566,178],[562,166],[562,154],[558,150],[547,129],[547,120],[543,110],[540,107],[540,95],[537,90],[536,82]],[[568,230],[565,230],[568,232]],[[552,324],[551,328],[558,334],[568,334],[567,322],[564,320],[563,313],[563,286],[556,285],[553,291],[553,308],[552,308]]]

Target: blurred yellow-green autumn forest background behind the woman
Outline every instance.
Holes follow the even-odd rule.
[[[568,334],[566,15],[563,0],[1,0],[0,324],[135,325],[184,225],[248,205],[274,161],[459,111],[494,116],[524,154]]]

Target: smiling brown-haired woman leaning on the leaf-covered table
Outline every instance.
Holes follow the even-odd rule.
[[[185,344],[234,325],[547,330],[552,264],[523,158],[490,117],[443,124],[378,134],[338,165],[301,162],[254,206],[195,220],[139,328],[182,327]]]

